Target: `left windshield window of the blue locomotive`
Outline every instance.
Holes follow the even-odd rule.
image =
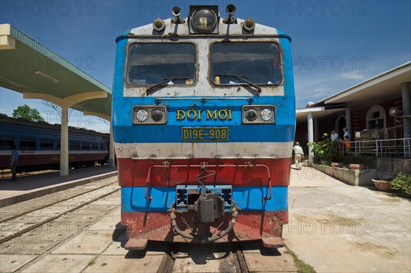
[[[192,84],[195,60],[194,44],[132,44],[127,60],[127,80],[141,86],[158,84],[166,79],[171,79],[169,84]]]

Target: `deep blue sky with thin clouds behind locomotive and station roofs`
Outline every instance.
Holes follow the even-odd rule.
[[[411,1],[0,1],[0,23],[10,23],[106,86],[112,87],[116,36],[169,18],[179,5],[234,3],[239,18],[281,29],[292,37],[297,107],[319,101],[411,60]],[[51,108],[0,88],[0,112]],[[48,114],[47,114],[48,113]],[[71,114],[72,126],[108,131],[96,118]]]

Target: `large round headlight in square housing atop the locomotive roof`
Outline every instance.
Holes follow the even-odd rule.
[[[219,7],[217,5],[190,5],[190,33],[218,34]]]

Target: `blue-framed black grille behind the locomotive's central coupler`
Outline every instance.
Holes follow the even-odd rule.
[[[224,211],[232,210],[232,186],[207,185],[208,190],[224,200]],[[178,211],[194,210],[194,203],[199,199],[200,194],[205,194],[206,190],[198,185],[177,185],[175,208]]]

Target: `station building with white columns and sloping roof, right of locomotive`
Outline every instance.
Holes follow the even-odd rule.
[[[369,157],[411,158],[411,62],[388,70],[306,108],[296,110],[295,140],[313,154],[308,142],[343,128],[350,133],[349,153]],[[408,161],[409,162],[409,161]],[[411,164],[410,164],[411,165]]]

